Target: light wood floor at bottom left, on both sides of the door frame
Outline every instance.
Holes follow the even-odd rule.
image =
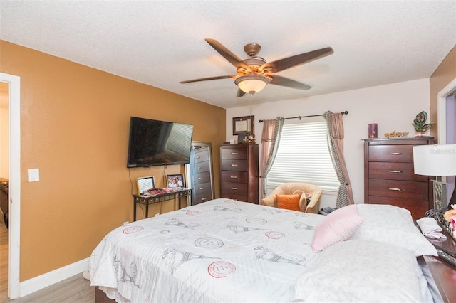
[[[95,287],[82,273],[15,300],[8,299],[8,229],[0,227],[0,303],[93,303]]]

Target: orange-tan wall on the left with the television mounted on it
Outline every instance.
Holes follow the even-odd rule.
[[[1,72],[21,77],[21,281],[83,260],[133,220],[138,176],[164,187],[164,174],[184,173],[181,165],[126,168],[130,116],[193,124],[194,140],[212,142],[219,196],[221,107],[6,41],[0,51]],[[31,168],[40,181],[28,183]]]

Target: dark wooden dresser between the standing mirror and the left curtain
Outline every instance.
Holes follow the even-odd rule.
[[[220,145],[222,198],[258,204],[258,144]]]

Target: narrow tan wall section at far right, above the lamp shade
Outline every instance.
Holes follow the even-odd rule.
[[[456,46],[450,50],[450,53],[442,60],[442,63],[432,73],[429,79],[430,93],[430,123],[433,123],[430,129],[430,135],[438,140],[437,125],[437,94],[445,88],[452,80],[456,78]]]

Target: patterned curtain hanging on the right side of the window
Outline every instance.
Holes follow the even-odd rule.
[[[347,166],[343,157],[343,122],[342,114],[325,112],[325,120],[328,127],[327,141],[329,154],[333,161],[337,179],[341,183],[337,194],[336,208],[353,204],[353,191],[351,190],[350,178],[348,178]]]

